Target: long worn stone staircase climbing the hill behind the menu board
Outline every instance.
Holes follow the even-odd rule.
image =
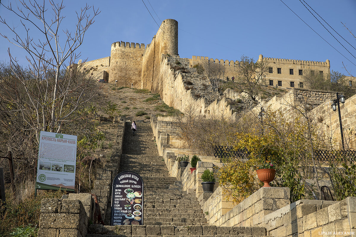
[[[143,178],[144,225],[90,225],[87,237],[266,235],[265,228],[260,227],[231,227],[240,228],[233,230],[208,226],[197,198],[181,191],[180,182],[169,176],[163,158],[158,155],[150,123],[138,122],[133,136],[131,123],[126,122],[119,172],[122,171],[134,171]]]

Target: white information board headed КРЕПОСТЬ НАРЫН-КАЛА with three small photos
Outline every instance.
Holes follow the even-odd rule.
[[[40,133],[37,161],[37,189],[74,191],[77,136]]]

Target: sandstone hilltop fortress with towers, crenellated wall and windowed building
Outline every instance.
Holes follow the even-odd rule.
[[[105,79],[108,82],[117,81],[118,86],[131,87],[132,83],[135,88],[160,92],[162,82],[158,80],[158,75],[163,60],[162,55],[178,56],[178,22],[176,20],[164,20],[150,44],[115,42],[111,45],[109,57],[83,62],[83,64],[82,60],[79,60],[78,65],[82,64],[83,67],[90,69],[97,79]],[[214,60],[205,56],[192,56],[191,59],[186,60],[189,60],[189,67],[203,60],[223,64],[225,66],[224,78],[237,77],[237,60]],[[325,75],[330,72],[329,60],[316,62],[278,59],[263,57],[262,54],[258,60],[267,61],[269,64],[269,73],[262,79],[270,86],[304,88],[301,77],[306,70]]]

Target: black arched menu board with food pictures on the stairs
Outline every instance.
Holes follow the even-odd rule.
[[[111,225],[143,225],[143,180],[132,171],[112,182]]]

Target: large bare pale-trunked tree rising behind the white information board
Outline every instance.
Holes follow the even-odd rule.
[[[26,51],[29,67],[22,68],[9,49],[11,76],[2,78],[0,96],[8,110],[22,117],[28,126],[26,129],[36,131],[38,140],[42,130],[60,132],[64,123],[70,122],[73,114],[78,114],[80,105],[89,101],[98,90],[92,78],[83,76],[82,68],[65,68],[80,56],[77,49],[100,12],[85,5],[76,12],[78,21],[71,31],[61,28],[65,17],[62,15],[63,1],[18,2],[20,6],[17,7],[12,7],[11,3],[2,6],[19,18],[23,29],[12,27],[1,16],[0,22],[10,29],[14,37],[1,35]],[[33,39],[33,35],[38,35],[39,39]],[[8,112],[2,109],[2,113]]]

